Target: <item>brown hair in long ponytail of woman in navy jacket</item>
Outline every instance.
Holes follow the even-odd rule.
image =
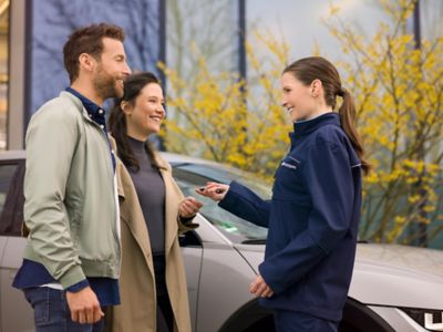
[[[356,106],[353,98],[349,91],[341,86],[340,75],[332,63],[321,56],[303,58],[288,65],[284,70],[284,73],[291,73],[297,80],[308,86],[315,80],[320,80],[323,86],[324,102],[332,110],[336,108],[337,96],[343,98],[343,103],[339,108],[341,125],[360,157],[363,172],[368,174],[371,166],[364,159],[363,145],[354,126]]]

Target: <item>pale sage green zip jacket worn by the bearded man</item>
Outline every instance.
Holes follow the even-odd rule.
[[[69,92],[45,103],[27,132],[24,258],[63,288],[120,276],[121,249],[111,148]]]

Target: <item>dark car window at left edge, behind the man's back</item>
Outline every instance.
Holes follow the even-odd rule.
[[[24,160],[0,164],[0,235],[21,236]]]

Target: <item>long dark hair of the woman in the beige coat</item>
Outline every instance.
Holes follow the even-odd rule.
[[[128,76],[124,82],[123,97],[114,101],[114,106],[112,107],[110,114],[110,132],[117,144],[119,157],[126,167],[136,172],[140,170],[140,164],[128,143],[126,117],[122,110],[122,102],[126,102],[130,105],[135,106],[135,100],[140,95],[141,91],[151,83],[159,84],[159,81],[153,73],[150,72],[141,72]],[[150,156],[151,164],[154,167],[159,168],[154,155],[154,147],[148,142],[145,144],[145,149]]]

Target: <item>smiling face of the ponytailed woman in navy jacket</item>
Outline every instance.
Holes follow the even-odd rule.
[[[291,121],[310,118],[316,110],[311,85],[303,84],[290,72],[284,73],[280,82],[281,105],[288,111]]]

